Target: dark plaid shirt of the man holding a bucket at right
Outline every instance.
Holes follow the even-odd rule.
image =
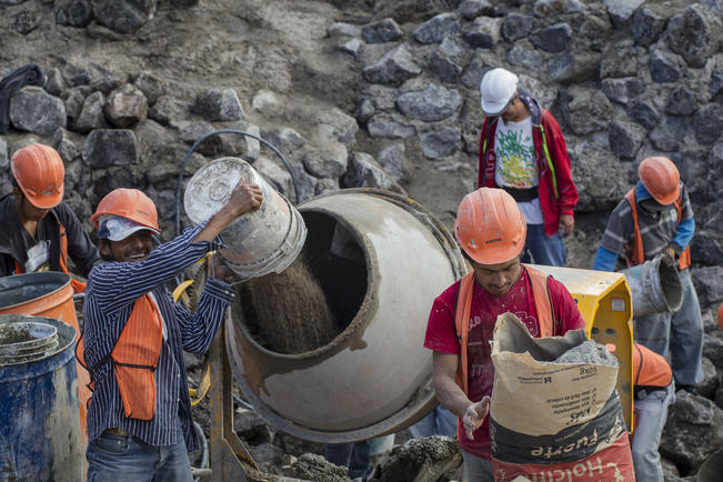
[[[657,209],[646,208],[652,198],[647,191],[642,191],[641,183],[636,187],[637,222],[643,239],[645,259],[655,258],[673,241],[677,230],[677,210],[674,204],[659,205]],[[644,188],[643,188],[644,189]],[[684,184],[681,184],[681,222],[693,219],[693,209]],[[601,240],[601,247],[612,253],[630,257],[635,235],[633,213],[630,202],[623,199],[617,203],[607,219],[607,227]],[[627,250],[625,250],[627,248]],[[684,247],[681,247],[684,248]],[[600,269],[600,268],[595,268]]]

